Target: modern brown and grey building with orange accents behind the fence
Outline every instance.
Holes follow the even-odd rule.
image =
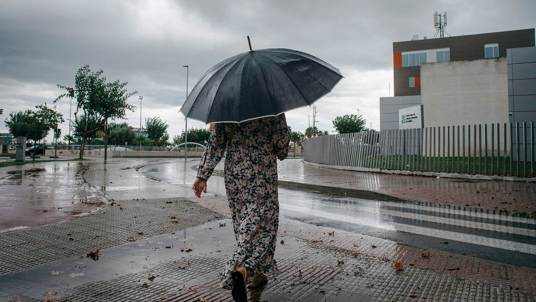
[[[534,46],[534,28],[394,42],[381,130],[400,129],[399,110],[420,105],[423,127],[536,121]]]

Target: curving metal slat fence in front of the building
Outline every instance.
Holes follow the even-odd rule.
[[[534,122],[364,131],[306,139],[312,163],[534,177]]]

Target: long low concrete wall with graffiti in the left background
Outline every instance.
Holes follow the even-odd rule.
[[[202,157],[204,151],[189,151],[188,157]],[[45,156],[79,156],[80,150],[46,150]],[[104,157],[104,150],[85,150],[84,156]],[[107,151],[107,157],[184,157],[184,152],[180,151]]]

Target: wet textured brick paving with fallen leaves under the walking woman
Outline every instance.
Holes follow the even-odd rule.
[[[106,171],[101,164],[86,170],[85,181],[108,200],[98,212],[0,233],[0,288],[5,291],[0,299],[232,301],[229,291],[218,288],[234,245],[226,199],[182,197],[191,196],[189,188],[145,178],[136,171],[140,165],[143,160],[117,160]],[[148,251],[167,245],[166,240],[182,242],[182,232],[184,248],[192,252],[161,246]],[[251,291],[251,301],[536,301],[532,269],[423,251],[285,218],[278,241],[280,274],[264,289]],[[56,276],[51,274],[34,290],[6,294],[11,279],[49,270],[57,262],[87,263],[92,260],[85,254],[94,249],[122,255],[126,260],[116,261],[129,263],[129,270],[113,276],[116,268],[106,268],[113,260],[102,259],[108,261],[101,264],[106,274],[63,276],[65,284],[60,285],[53,284]],[[422,257],[426,252],[430,256]],[[404,269],[396,270],[395,262]]]

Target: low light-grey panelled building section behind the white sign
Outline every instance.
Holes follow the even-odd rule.
[[[421,105],[420,95],[379,98],[379,129],[398,129],[398,109],[415,105]]]

